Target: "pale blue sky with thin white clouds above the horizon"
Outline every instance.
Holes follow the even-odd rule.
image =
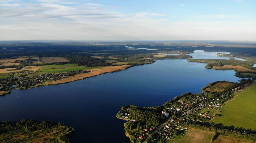
[[[256,41],[256,0],[0,0],[1,40]]]

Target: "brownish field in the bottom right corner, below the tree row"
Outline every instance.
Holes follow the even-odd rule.
[[[239,139],[233,136],[220,135],[218,136],[217,139],[214,140],[213,143],[255,143],[255,142],[248,139]]]

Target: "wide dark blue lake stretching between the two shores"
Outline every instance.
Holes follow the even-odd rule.
[[[197,59],[226,59],[190,55]],[[205,65],[186,59],[157,60],[67,84],[15,89],[0,97],[0,121],[58,121],[75,129],[71,138],[74,143],[129,143],[124,134],[125,121],[115,117],[123,105],[158,106],[185,92],[201,93],[210,82],[240,79],[233,70],[206,69]]]

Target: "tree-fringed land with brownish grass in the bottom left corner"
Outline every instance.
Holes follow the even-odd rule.
[[[69,136],[74,133],[72,127],[59,122],[20,120],[0,122],[0,142],[47,142],[70,143]]]

